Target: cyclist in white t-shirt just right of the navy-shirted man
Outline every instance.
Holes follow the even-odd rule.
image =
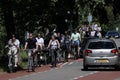
[[[38,33],[38,36],[36,37],[36,40],[38,42],[38,52],[40,52],[40,54],[41,54],[41,50],[43,50],[43,48],[44,48],[44,39],[41,37],[40,33]],[[37,58],[38,58],[37,63],[39,64],[39,66],[41,65],[40,54],[37,55]]]

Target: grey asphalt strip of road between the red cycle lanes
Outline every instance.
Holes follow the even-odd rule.
[[[44,72],[38,72],[12,80],[76,80],[97,71],[82,71],[82,62],[73,61],[61,65],[60,68],[54,68]]]

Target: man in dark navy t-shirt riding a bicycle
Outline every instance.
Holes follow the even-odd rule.
[[[28,58],[30,58],[33,55],[34,62],[37,63],[36,51],[38,50],[38,43],[37,43],[37,40],[33,38],[32,33],[29,34],[29,38],[26,40],[23,50],[26,50],[27,47],[28,47]]]

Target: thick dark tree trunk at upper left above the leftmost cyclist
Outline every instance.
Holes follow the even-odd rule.
[[[11,37],[12,34],[15,34],[15,26],[13,20],[13,7],[11,0],[3,0],[2,1],[2,10],[4,14],[5,28],[7,31],[8,38]]]

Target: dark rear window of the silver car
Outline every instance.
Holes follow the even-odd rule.
[[[88,49],[112,49],[115,45],[112,42],[91,42]]]

